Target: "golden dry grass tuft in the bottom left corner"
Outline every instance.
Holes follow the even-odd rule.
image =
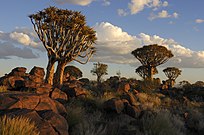
[[[0,118],[1,135],[39,135],[37,128],[28,118],[14,117],[6,115]]]

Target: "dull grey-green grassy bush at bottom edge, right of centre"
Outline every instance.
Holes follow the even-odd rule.
[[[169,111],[161,110],[156,115],[145,115],[141,119],[145,135],[183,135],[184,122]]]

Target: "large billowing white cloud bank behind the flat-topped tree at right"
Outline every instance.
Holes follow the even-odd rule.
[[[138,47],[149,44],[159,44],[172,51],[174,57],[164,66],[176,66],[180,68],[203,68],[204,51],[193,51],[182,46],[173,39],[165,39],[157,35],[140,33],[136,36],[129,35],[120,27],[108,22],[97,23],[94,26],[97,32],[97,52],[92,61],[109,62],[116,64],[141,65],[131,55]]]

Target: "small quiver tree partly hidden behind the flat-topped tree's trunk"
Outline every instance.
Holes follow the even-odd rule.
[[[135,72],[143,78],[143,80],[146,80],[148,78],[148,68],[146,66],[139,66]],[[152,74],[158,74],[158,70],[156,67],[153,67]]]

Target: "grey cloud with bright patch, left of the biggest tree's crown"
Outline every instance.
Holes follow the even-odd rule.
[[[16,56],[25,59],[38,58],[35,50],[44,51],[34,31],[16,28],[10,33],[0,32],[0,59]]]

